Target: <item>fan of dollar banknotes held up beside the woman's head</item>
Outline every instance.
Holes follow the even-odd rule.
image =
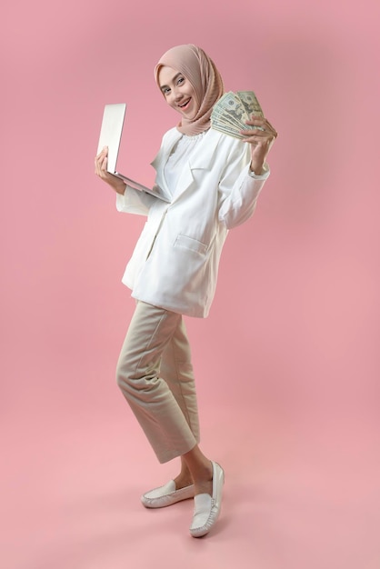
[[[215,103],[211,114],[211,127],[225,135],[244,138],[239,131],[249,129],[245,121],[252,115],[264,116],[263,109],[253,91],[229,91]]]

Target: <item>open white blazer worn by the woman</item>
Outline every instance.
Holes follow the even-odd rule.
[[[165,163],[180,136],[169,130],[152,162],[163,193]],[[264,175],[249,175],[249,163],[248,144],[210,129],[181,172],[170,204],[131,187],[117,195],[118,211],[147,215],[122,279],[134,298],[188,316],[208,315],[228,230],[253,215],[269,175],[267,166]]]

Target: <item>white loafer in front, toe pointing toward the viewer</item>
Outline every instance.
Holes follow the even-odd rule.
[[[210,494],[196,494],[194,497],[193,522],[190,525],[190,534],[193,537],[202,537],[211,530],[219,517],[222,506],[222,489],[225,483],[223,468],[213,464],[213,496]]]

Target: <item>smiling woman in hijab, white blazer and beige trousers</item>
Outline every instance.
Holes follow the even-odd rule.
[[[214,62],[195,45],[169,49],[155,66],[155,81],[166,103],[181,115],[152,163],[156,185],[170,203],[108,174],[106,148],[95,157],[95,173],[115,190],[119,211],[147,215],[123,277],[136,306],[117,383],[159,462],[180,456],[181,469],[141,499],[157,508],[194,497],[190,534],[200,537],[220,513],[224,471],[199,446],[183,315],[208,315],[225,237],[254,213],[276,132],[258,116],[246,122],[244,140],[210,128],[224,85]]]

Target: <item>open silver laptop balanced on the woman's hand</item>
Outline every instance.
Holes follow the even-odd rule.
[[[125,103],[105,105],[102,126],[100,129],[99,144],[97,145],[97,154],[99,154],[102,148],[108,146],[107,171],[110,174],[121,178],[125,184],[130,185],[135,188],[135,190],[146,192],[147,194],[158,197],[160,200],[170,203],[170,199],[160,193],[158,186],[155,186],[153,189],[148,188],[145,185],[138,184],[135,180],[131,180],[131,178],[128,178],[117,171],[117,155],[119,154],[120,141],[123,134],[125,110]]]

